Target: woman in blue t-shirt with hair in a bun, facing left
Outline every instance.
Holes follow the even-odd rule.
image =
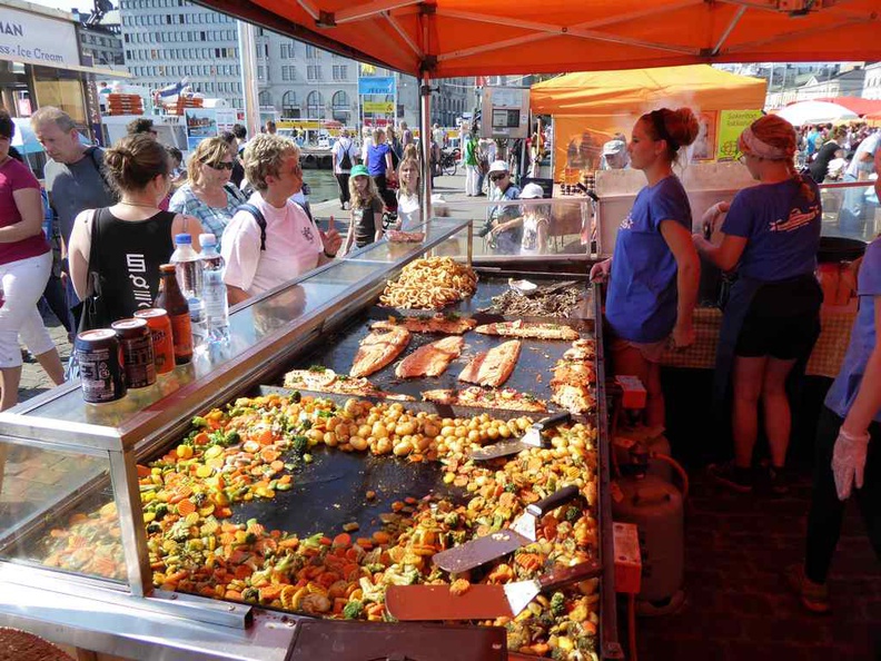
[[[650,426],[665,420],[661,354],[669,342],[677,348],[694,342],[692,312],[701,266],[691,241],[689,197],[673,174],[673,161],[699,130],[689,108],[664,108],[640,118],[627,151],[631,167],[645,172],[649,185],[618,228],[614,258],[591,269],[592,279],[608,277],[605,315],[613,371],[637,376],[645,385]]]

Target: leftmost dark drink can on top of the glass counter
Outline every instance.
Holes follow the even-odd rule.
[[[126,396],[122,354],[116,331],[86,331],[73,341],[80,366],[82,398],[90,404],[116,402]]]

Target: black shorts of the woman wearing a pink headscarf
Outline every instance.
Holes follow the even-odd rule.
[[[808,356],[820,336],[822,302],[813,276],[762,285],[743,320],[735,354],[780,361]]]

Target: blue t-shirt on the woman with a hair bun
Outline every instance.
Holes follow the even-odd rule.
[[[640,190],[618,228],[606,319],[618,337],[631,342],[657,342],[676,324],[677,268],[661,235],[664,220],[679,223],[691,233],[691,205],[675,176]]]

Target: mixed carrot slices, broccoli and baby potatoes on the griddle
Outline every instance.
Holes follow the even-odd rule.
[[[519,435],[532,421],[467,420],[410,413],[402,404],[266,395],[237,399],[194,418],[192,431],[168,454],[138,466],[150,565],[157,588],[244,601],[317,616],[388,620],[386,585],[506,583],[535,578],[555,564],[595,556],[597,522],[594,428],[556,428],[548,448],[509,461],[474,463],[471,448]],[[444,481],[469,494],[464,504],[407,497],[380,516],[383,529],[356,527],[299,537],[267,531],[256,520],[234,522],[235,504],[273,499],[291,487],[290,470],[308,463],[318,444],[341,452],[394,454],[441,462]],[[505,527],[528,503],[576,484],[581,507],[545,516],[538,540],[485,571],[446,574],[434,553]],[[343,529],[347,529],[346,532]],[[125,561],[112,503],[75,515],[47,537],[50,566],[122,579]],[[554,659],[595,659],[597,581],[540,595],[504,625],[508,648]]]

